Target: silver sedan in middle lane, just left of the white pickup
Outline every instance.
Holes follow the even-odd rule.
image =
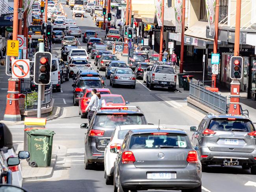
[[[136,78],[132,69],[117,68],[110,75],[109,85],[112,85],[112,87],[115,87],[115,85],[130,85],[133,89],[135,89]]]

